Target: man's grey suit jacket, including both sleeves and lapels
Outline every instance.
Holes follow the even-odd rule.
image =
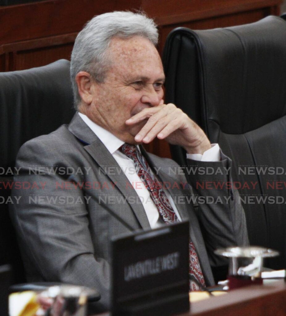
[[[178,165],[142,150],[150,166],[157,167],[159,180],[170,187],[182,220],[190,221],[190,237],[206,284],[214,284],[211,266],[226,263],[213,251],[248,243],[237,192],[226,187],[197,188],[197,181],[202,183],[214,177],[196,173],[188,179],[195,194],[213,197],[215,201],[218,197],[226,201],[224,197],[228,197],[228,203],[199,202],[194,207],[185,176],[174,172],[179,170]],[[222,155],[219,162],[188,160],[188,165],[193,170],[206,166],[223,169],[231,166],[231,161]],[[95,287],[102,295],[97,303],[99,310],[107,308],[109,240],[128,231],[108,210],[134,229],[150,228],[143,205],[125,174],[78,114],[69,126],[62,125],[49,135],[25,143],[19,150],[16,166],[21,169],[15,183],[30,185],[29,189],[12,191],[12,195],[22,197],[11,210],[28,280]],[[215,180],[223,182],[230,178],[228,174],[215,175]]]

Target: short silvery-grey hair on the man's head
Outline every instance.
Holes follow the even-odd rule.
[[[81,101],[75,77],[79,71],[88,72],[97,82],[103,82],[109,62],[106,50],[114,36],[128,38],[140,35],[158,43],[155,22],[143,13],[114,11],[93,17],[78,33],[71,53],[71,83],[74,106]]]

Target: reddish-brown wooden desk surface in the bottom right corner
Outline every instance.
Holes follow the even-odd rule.
[[[109,313],[97,316],[108,316]],[[232,290],[191,304],[190,312],[180,316],[285,316],[286,283],[283,280]],[[178,316],[178,315],[177,315]]]

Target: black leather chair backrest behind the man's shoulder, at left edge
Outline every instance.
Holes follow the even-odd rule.
[[[69,61],[29,70],[0,73],[0,265],[11,264],[13,282],[23,282],[24,272],[16,235],[8,207],[17,198],[10,197],[17,152],[34,137],[69,123],[73,96]]]

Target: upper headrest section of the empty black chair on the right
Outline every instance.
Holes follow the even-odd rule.
[[[211,30],[179,28],[170,36],[176,32],[182,47],[193,47],[190,58],[196,51],[203,117],[217,123],[221,131],[242,134],[286,114],[286,21],[282,18],[268,16]]]

